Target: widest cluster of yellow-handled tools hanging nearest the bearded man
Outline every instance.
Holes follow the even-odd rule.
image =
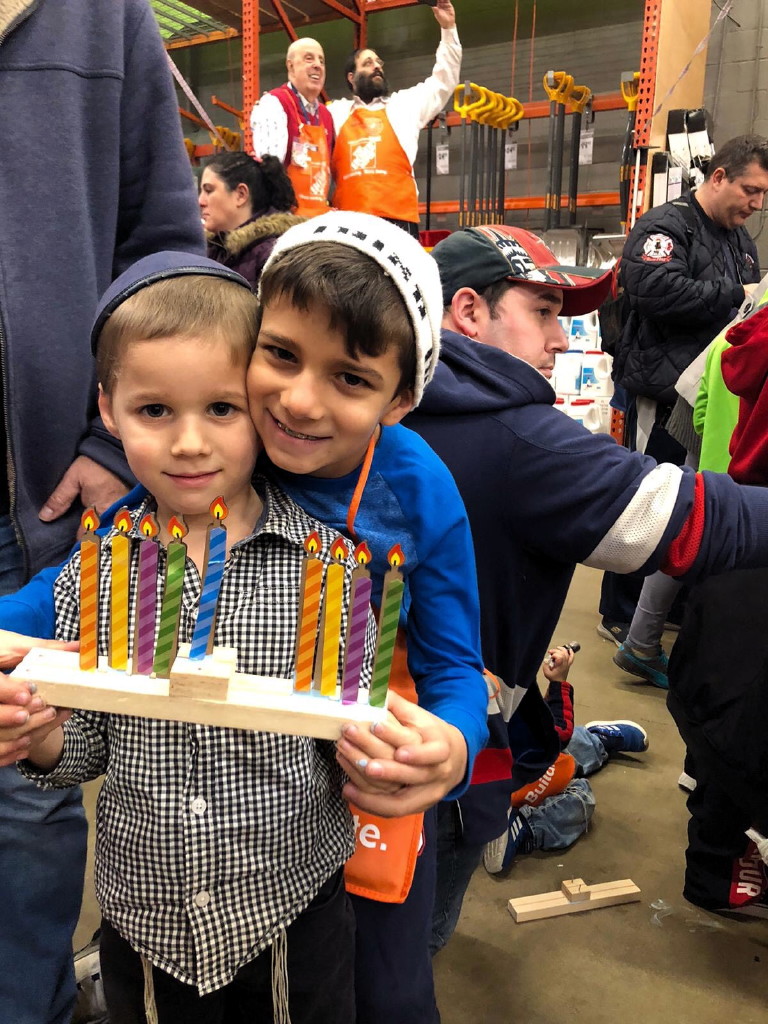
[[[462,118],[459,226],[503,222],[504,144],[509,128],[523,115],[522,103],[465,82],[454,91],[454,110]]]

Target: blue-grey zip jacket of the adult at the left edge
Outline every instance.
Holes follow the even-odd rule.
[[[82,509],[38,512],[78,455],[131,482],[97,418],[99,295],[161,249],[204,252],[166,55],[146,0],[0,0],[0,354],[11,515],[31,572]]]

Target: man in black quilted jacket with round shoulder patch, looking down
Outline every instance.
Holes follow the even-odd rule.
[[[654,459],[685,460],[665,430],[675,384],[760,280],[744,223],[766,194],[768,139],[740,135],[715,154],[695,191],[649,210],[627,239],[622,276],[630,314],[613,377],[634,399],[631,446]],[[612,573],[603,581],[598,633],[617,645],[627,638],[640,586]]]

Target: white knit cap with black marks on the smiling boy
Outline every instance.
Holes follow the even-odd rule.
[[[264,270],[289,249],[312,242],[337,242],[358,249],[376,260],[397,287],[416,335],[414,406],[418,406],[440,353],[442,289],[437,264],[416,239],[395,224],[368,213],[333,210],[282,234]]]

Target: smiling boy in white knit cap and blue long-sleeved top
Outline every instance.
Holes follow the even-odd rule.
[[[390,687],[402,693],[416,684],[414,740],[403,743],[387,726],[376,736],[346,728],[338,744],[351,779],[345,796],[373,814],[420,812],[463,792],[485,739],[487,705],[466,512],[444,465],[400,426],[437,362],[437,266],[392,224],[334,212],[279,240],[259,296],[248,394],[276,481],[321,521],[368,543],[376,604],[388,555],[400,549],[404,643]],[[434,717],[421,718],[422,709]],[[376,759],[378,740],[398,748],[394,760]],[[361,774],[404,788],[364,794],[355,784]],[[439,1019],[428,950],[432,824],[428,814],[404,904],[355,899],[358,1020]]]

